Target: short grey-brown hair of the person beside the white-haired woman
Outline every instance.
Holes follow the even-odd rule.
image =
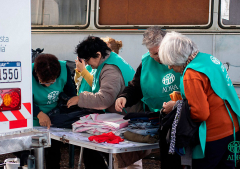
[[[142,44],[148,49],[160,45],[166,32],[159,26],[149,27],[143,34]]]

